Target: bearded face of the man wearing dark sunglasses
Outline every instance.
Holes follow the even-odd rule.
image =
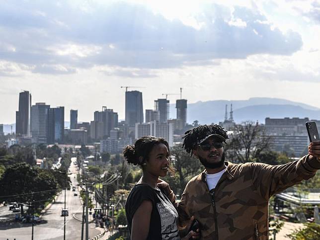
[[[193,150],[193,155],[208,168],[221,167],[225,162],[225,153],[221,141],[211,137]]]

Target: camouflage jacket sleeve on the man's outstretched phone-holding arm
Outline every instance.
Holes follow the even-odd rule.
[[[313,177],[318,169],[320,169],[320,162],[315,158],[309,159],[309,155],[282,165],[257,162],[250,164],[253,185],[265,199]]]

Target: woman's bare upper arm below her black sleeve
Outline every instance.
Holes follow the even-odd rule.
[[[144,200],[132,218],[131,240],[146,240],[149,234],[153,204]]]

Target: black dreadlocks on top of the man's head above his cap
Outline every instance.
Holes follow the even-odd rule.
[[[182,148],[187,153],[191,153],[192,156],[192,149],[198,144],[198,142],[211,134],[218,134],[224,139],[229,139],[227,131],[225,131],[224,128],[222,128],[220,125],[200,125],[184,133],[184,136],[181,138],[183,139]]]

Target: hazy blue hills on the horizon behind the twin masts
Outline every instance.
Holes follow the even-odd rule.
[[[266,117],[309,117],[310,119],[320,119],[320,108],[314,106],[286,99],[252,97],[248,100],[215,100],[190,103],[187,109],[187,122],[192,123],[194,120],[198,120],[202,124],[209,124],[223,121],[226,104],[228,104],[229,118],[231,103],[233,104],[236,122],[258,120],[264,123]],[[175,117],[176,108],[174,103],[170,104],[170,118]]]

